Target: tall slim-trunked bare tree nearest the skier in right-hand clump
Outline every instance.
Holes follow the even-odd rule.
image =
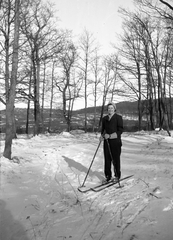
[[[124,32],[121,36],[122,46],[118,48],[121,55],[120,69],[128,77],[122,77],[124,84],[130,90],[129,93],[135,95],[138,101],[138,128],[142,124],[142,100],[146,98],[146,90],[143,75],[145,75],[143,61],[143,43],[140,36],[141,26],[135,20],[135,14],[121,9],[124,17]]]

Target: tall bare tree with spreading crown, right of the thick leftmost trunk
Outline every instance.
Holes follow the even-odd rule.
[[[46,58],[61,51],[61,36],[54,27],[51,6],[35,0],[23,8],[22,33],[30,48],[34,83],[34,134],[40,132],[41,65]]]

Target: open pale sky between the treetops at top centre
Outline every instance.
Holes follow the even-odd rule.
[[[132,8],[133,0],[50,0],[56,4],[59,26],[79,35],[86,28],[106,54],[121,31],[119,7]]]

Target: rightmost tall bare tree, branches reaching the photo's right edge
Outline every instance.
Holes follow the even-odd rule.
[[[144,1],[146,3],[147,1]],[[160,129],[163,128],[163,124],[165,122],[166,129],[168,134],[169,127],[168,121],[169,116],[167,107],[167,89],[168,89],[168,72],[170,71],[171,63],[172,63],[172,34],[170,27],[172,22],[172,17],[165,9],[161,9],[158,5],[152,5],[150,3],[149,8],[152,11],[159,13],[159,16],[155,16],[155,19],[152,19],[152,22],[156,22],[156,30],[153,30],[153,33],[149,31],[146,24],[142,23],[142,26],[147,34],[149,39],[149,43],[151,46],[151,52],[153,58],[153,69],[157,76],[157,102],[158,102],[158,122]],[[147,11],[148,12],[148,11]],[[159,20],[158,20],[159,19]],[[171,20],[170,21],[168,21]],[[141,21],[140,21],[141,22]],[[170,83],[170,82],[169,82]]]

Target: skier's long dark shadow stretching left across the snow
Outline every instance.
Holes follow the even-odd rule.
[[[84,165],[82,165],[81,163],[79,162],[76,162],[74,161],[73,159],[71,158],[68,158],[68,157],[65,157],[65,156],[62,156],[64,158],[64,160],[66,161],[66,163],[68,164],[68,167],[69,168],[75,168],[76,170],[80,171],[80,172],[84,172],[87,174],[88,172],[88,168],[85,167]],[[99,180],[103,180],[103,173],[101,172],[98,172],[98,171],[92,171],[90,169],[89,171],[89,174],[88,174],[90,177],[97,177]]]

